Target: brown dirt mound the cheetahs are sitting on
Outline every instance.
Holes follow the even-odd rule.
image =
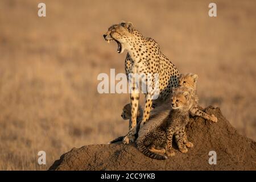
[[[174,157],[155,160],[135,144],[97,144],[73,148],[49,170],[256,170],[256,142],[238,134],[220,109],[209,106],[205,111],[216,115],[218,122],[190,119],[187,135],[194,147],[187,154],[176,151]],[[216,165],[209,164],[209,151],[216,151]]]

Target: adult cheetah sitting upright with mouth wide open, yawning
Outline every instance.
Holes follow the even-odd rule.
[[[179,85],[179,71],[166,56],[160,52],[158,43],[154,39],[145,38],[137,31],[130,22],[122,22],[109,27],[103,35],[107,42],[115,41],[118,45],[117,52],[122,53],[127,50],[125,59],[125,72],[129,80],[135,74],[141,75],[141,82],[151,88],[146,90],[145,105],[141,127],[148,121],[152,98],[159,90],[159,96],[166,100],[170,95],[172,87]],[[145,76],[146,75],[146,76]],[[158,81],[156,81],[158,79]],[[132,79],[133,80],[133,79]],[[158,83],[158,84],[155,84]],[[131,88],[131,126],[129,133],[123,139],[124,144],[134,142],[136,133],[136,118],[139,105],[138,83],[129,82]]]

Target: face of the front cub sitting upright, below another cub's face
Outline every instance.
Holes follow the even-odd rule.
[[[172,92],[171,105],[172,109],[188,109],[189,106],[189,92],[176,91]]]

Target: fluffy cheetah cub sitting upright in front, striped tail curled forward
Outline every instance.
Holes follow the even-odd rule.
[[[175,135],[175,141],[181,152],[185,153],[188,151],[187,147],[193,147],[185,134],[185,126],[189,119],[190,98],[189,92],[172,92],[171,104],[169,101],[172,109],[169,107],[168,111],[159,111],[139,130],[137,138],[139,151],[150,158],[159,160],[167,159],[167,156],[174,156],[173,135]]]

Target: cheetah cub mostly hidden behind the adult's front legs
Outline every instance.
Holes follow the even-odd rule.
[[[142,110],[141,105],[139,105],[138,106],[138,113],[137,113],[137,134],[135,134],[135,139],[137,139],[137,137],[138,137],[138,132],[139,132],[139,127],[141,126],[142,116],[143,116],[143,110]],[[122,111],[121,117],[124,120],[129,119],[129,128],[131,128],[131,104],[126,104],[125,106],[123,106],[123,111]],[[115,138],[114,140],[112,140],[108,144],[120,142],[120,141],[123,140],[123,138],[125,138],[125,136]]]

